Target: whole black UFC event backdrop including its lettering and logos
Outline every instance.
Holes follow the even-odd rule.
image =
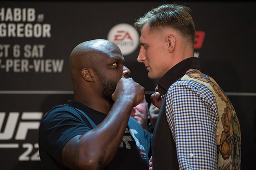
[[[164,1],[173,3],[173,1]],[[81,42],[108,39],[122,50],[131,77],[157,80],[137,62],[133,24],[163,2],[0,1],[0,169],[41,170],[38,127],[53,106],[73,99],[68,60]],[[195,57],[227,93],[241,125],[241,169],[256,167],[256,3],[177,2],[192,9]],[[90,97],[90,96],[88,96]]]

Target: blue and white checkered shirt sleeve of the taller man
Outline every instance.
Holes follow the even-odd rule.
[[[166,117],[180,170],[216,170],[218,108],[212,91],[185,80],[172,84],[166,95]]]

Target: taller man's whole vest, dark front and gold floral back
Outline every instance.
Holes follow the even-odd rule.
[[[214,79],[196,69],[188,70],[179,80],[195,81],[212,91],[217,102],[219,116],[216,130],[218,170],[240,170],[241,132],[235,109],[230,100]],[[153,169],[178,170],[175,142],[166,120],[165,104],[164,99],[152,138]]]

